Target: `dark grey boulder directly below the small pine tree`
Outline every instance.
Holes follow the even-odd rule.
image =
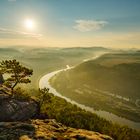
[[[0,121],[22,121],[32,118],[38,112],[35,101],[23,101],[0,94]]]

